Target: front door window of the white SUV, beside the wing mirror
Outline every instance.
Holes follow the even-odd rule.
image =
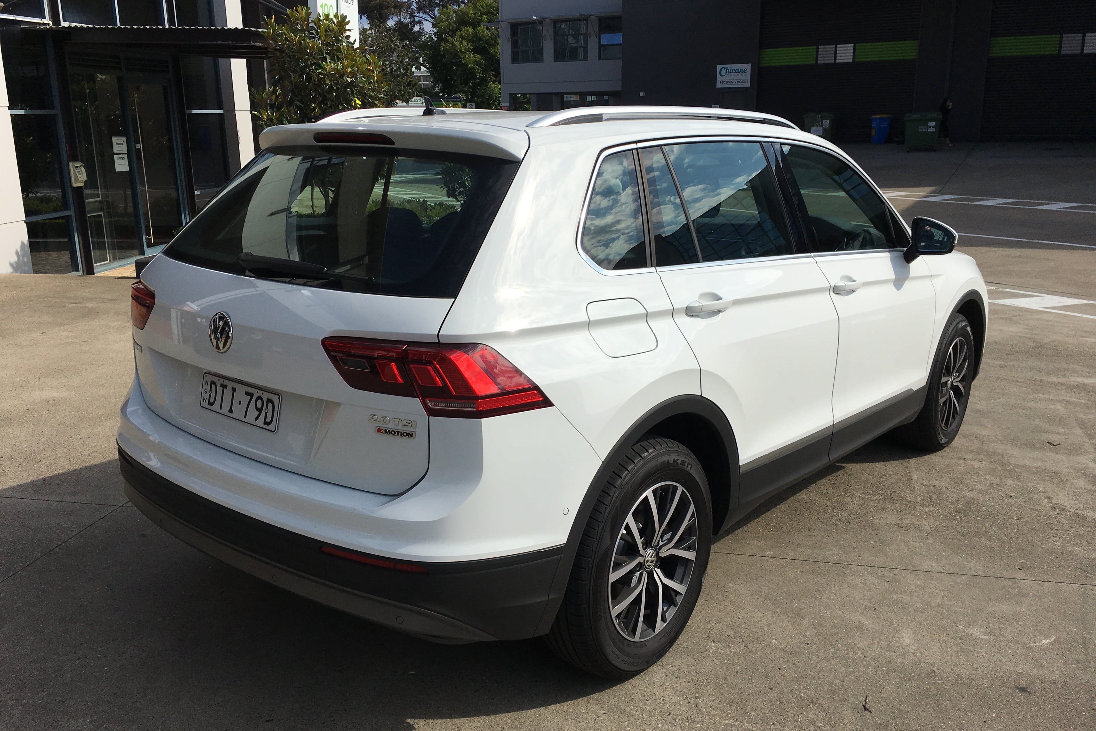
[[[808,147],[784,146],[819,251],[900,247],[882,198],[847,163]]]

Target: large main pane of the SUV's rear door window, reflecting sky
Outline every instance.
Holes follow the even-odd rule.
[[[756,142],[696,142],[665,148],[700,261],[795,253],[776,182]]]

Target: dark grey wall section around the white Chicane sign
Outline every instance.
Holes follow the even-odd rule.
[[[624,0],[621,103],[754,108],[760,23],[761,0]],[[716,88],[720,64],[753,65],[745,94]]]

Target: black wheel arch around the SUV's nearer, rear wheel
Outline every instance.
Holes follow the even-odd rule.
[[[727,517],[732,514],[739,494],[739,449],[727,415],[715,402],[701,396],[677,396],[653,407],[617,439],[586,488],[586,494],[575,512],[563,546],[537,635],[547,633],[556,618],[574,564],[579,540],[602,488],[628,449],[648,434],[680,442],[696,455],[708,478],[713,535],[722,530]]]

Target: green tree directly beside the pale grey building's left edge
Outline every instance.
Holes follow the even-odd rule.
[[[437,91],[460,94],[478,108],[499,108],[499,34],[483,25],[496,20],[498,0],[469,0],[437,11],[433,31],[422,41],[423,61]]]

